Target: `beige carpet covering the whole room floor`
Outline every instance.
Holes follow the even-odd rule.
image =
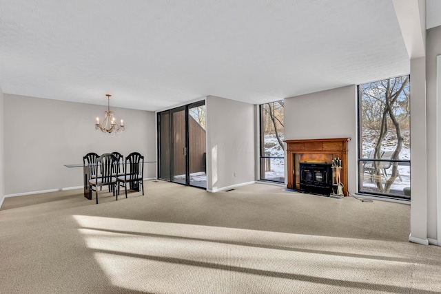
[[[0,293],[441,293],[441,247],[407,242],[409,205],[156,180],[99,199],[6,198]]]

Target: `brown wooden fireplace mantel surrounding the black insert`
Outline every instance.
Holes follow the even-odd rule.
[[[347,189],[347,143],[351,138],[324,138],[285,140],[287,143],[287,188],[299,189],[298,167],[300,162],[327,162],[333,158],[342,160],[341,182],[343,193]]]

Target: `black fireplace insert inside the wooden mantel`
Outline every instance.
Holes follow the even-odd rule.
[[[300,162],[300,190],[330,195],[332,193],[331,164]]]

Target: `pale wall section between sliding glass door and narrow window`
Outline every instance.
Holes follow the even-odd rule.
[[[254,105],[207,96],[207,191],[254,182],[255,121]]]

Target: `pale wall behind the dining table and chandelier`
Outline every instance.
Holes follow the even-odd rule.
[[[82,163],[88,152],[138,151],[156,160],[154,112],[112,107],[124,119],[122,136],[99,136],[94,128],[107,105],[90,105],[4,94],[5,193],[7,196],[81,187]],[[156,176],[156,163],[145,165],[145,178]]]

